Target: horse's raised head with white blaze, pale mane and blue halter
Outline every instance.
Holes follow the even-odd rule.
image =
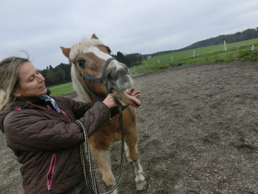
[[[81,98],[95,101],[93,96],[98,96],[97,98],[103,100],[109,92],[115,92],[120,105],[140,106],[139,100],[125,92],[133,85],[129,68],[112,58],[110,48],[102,44],[95,34],[91,39],[82,39],[71,48],[63,46],[60,48],[69,62],[73,63],[71,68],[73,87]],[[82,88],[88,92],[83,92]]]

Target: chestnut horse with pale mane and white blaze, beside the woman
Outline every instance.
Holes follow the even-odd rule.
[[[136,174],[136,190],[147,187],[137,149],[138,132],[136,128],[136,108],[140,101],[129,96],[127,89],[132,87],[133,80],[128,67],[111,57],[111,49],[104,45],[93,34],[91,39],[83,38],[71,48],[60,46],[62,53],[72,63],[71,78],[73,87],[82,102],[104,100],[109,92],[115,92],[118,103],[128,105],[122,111],[122,122],[125,134],[125,153],[128,161],[133,161]],[[104,70],[103,70],[104,69]],[[84,78],[93,78],[84,80]],[[96,81],[99,80],[100,82]],[[103,84],[104,83],[104,84]],[[111,122],[113,121],[113,122]],[[119,116],[107,119],[100,129],[89,138],[91,154],[102,173],[104,185],[111,189],[115,186],[115,177],[111,171],[111,144],[121,141]],[[112,194],[118,193],[117,189]]]

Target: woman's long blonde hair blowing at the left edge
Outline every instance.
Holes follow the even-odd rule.
[[[30,62],[27,58],[10,57],[0,62],[0,111],[13,98],[13,92],[19,87],[19,67],[24,62]]]

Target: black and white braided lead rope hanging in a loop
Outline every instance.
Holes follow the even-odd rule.
[[[89,148],[88,135],[87,135],[86,129],[85,129],[84,125],[81,123],[81,121],[79,121],[79,120],[75,121],[82,128],[82,131],[84,134],[84,139],[85,139],[85,142],[80,145],[80,157],[81,157],[81,161],[82,161],[82,171],[84,173],[84,177],[86,179],[87,186],[91,190],[91,193],[94,193],[94,194],[109,194],[109,193],[115,191],[115,189],[118,187],[118,184],[119,184],[121,176],[122,176],[122,167],[124,165],[124,155],[125,155],[125,134],[124,134],[124,127],[122,125],[122,107],[118,107],[118,109],[119,109],[120,132],[122,135],[121,159],[120,159],[121,163],[120,163],[120,168],[119,168],[118,181],[116,182],[115,186],[113,186],[113,188],[111,188],[111,190],[106,193],[98,192],[96,178],[95,178],[95,171],[94,171],[94,166],[93,166],[93,160],[92,160],[92,156],[91,156],[91,152],[90,152],[90,148]],[[83,146],[83,145],[85,145],[85,146]],[[89,182],[89,177],[86,175],[84,153],[87,154],[87,157],[89,159],[89,166],[90,166],[90,173],[91,173],[93,187],[91,186],[91,184]]]

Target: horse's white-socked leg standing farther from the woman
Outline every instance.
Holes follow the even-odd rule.
[[[136,173],[136,190],[142,191],[147,188],[147,182],[143,176],[142,166],[140,166],[140,160],[137,150],[136,139],[126,139],[127,148],[129,151],[129,158],[133,161],[135,173]]]

